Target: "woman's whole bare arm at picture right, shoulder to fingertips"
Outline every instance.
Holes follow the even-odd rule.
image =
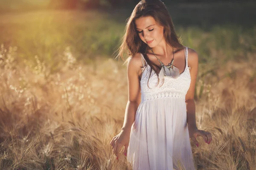
[[[187,109],[187,123],[189,129],[189,137],[198,147],[198,141],[196,140],[197,136],[202,136],[204,142],[210,144],[212,141],[212,135],[209,132],[204,130],[198,130],[195,120],[195,82],[198,74],[198,54],[191,48],[188,48],[188,66],[190,67],[190,76],[191,82],[189,86],[189,90],[186,94],[186,109]]]

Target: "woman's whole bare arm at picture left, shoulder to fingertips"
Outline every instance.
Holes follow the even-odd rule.
[[[131,126],[135,119],[135,114],[140,104],[140,79],[141,74],[141,59],[140,54],[137,53],[128,61],[127,65],[127,79],[128,79],[128,102],[125,109],[124,123],[121,132],[113,137],[111,145],[113,152],[118,159],[119,152],[122,146],[125,146],[124,154],[127,154],[127,148],[130,140]]]

